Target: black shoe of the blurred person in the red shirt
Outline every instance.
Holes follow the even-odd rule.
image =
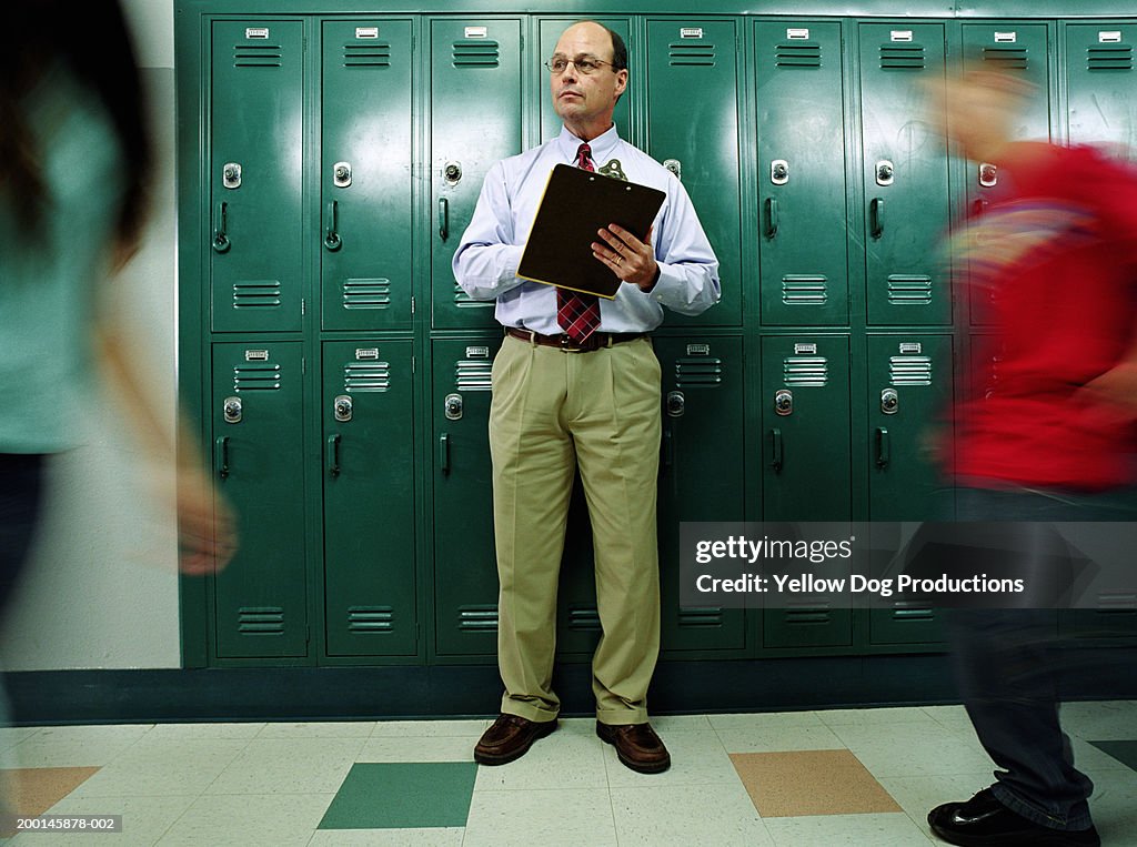
[[[945,803],[928,813],[932,832],[962,847],[1098,847],[1102,839],[1090,827],[1051,829],[1028,821],[999,803],[985,788],[966,803]]]

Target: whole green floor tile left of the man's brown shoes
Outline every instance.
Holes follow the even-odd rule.
[[[319,829],[465,827],[476,774],[473,762],[357,763]]]

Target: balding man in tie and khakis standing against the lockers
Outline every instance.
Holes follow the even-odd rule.
[[[595,22],[573,24],[546,66],[564,128],[490,169],[454,257],[472,298],[497,299],[506,332],[489,423],[505,695],[474,758],[512,762],[556,729],[557,579],[579,467],[603,629],[592,659],[597,734],[628,767],[658,773],[671,757],[647,714],[659,650],[661,437],[659,363],[648,333],[664,306],[697,315],[717,302],[719,263],[679,180],[616,132],[612,116],[628,86],[620,35]],[[596,260],[622,280],[613,300],[516,275],[549,172],[570,163],[666,193],[645,241],[615,225],[597,233]]]

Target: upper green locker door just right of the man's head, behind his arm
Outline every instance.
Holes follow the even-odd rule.
[[[648,22],[647,152],[679,176],[722,280],[722,300],[667,325],[742,323],[738,150],[738,33],[732,20]],[[697,92],[678,97],[678,92]]]

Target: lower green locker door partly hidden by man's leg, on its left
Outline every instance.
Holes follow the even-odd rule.
[[[440,655],[497,655],[487,422],[500,335],[433,342],[434,614]]]

